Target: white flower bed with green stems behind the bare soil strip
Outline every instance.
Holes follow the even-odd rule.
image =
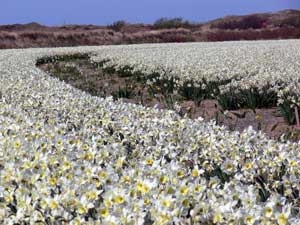
[[[150,83],[161,80],[195,101],[214,97],[224,110],[278,105],[293,124],[300,107],[299,49],[299,40],[124,45],[106,47],[92,60],[156,75]]]

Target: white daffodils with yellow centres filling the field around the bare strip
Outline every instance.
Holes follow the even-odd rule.
[[[94,61],[159,69],[179,81],[260,84],[271,71],[292,88],[299,47],[292,40],[1,50],[0,224],[300,224],[299,144],[92,97],[35,66],[42,56],[93,52]]]

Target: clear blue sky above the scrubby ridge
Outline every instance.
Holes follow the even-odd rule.
[[[152,23],[160,17],[202,22],[225,15],[300,9],[300,0],[1,0],[0,24]]]

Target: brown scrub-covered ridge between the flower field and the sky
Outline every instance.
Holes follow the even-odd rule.
[[[133,43],[230,41],[300,38],[300,11],[227,16],[172,29],[125,24],[43,26],[37,23],[0,26],[0,48],[60,47]]]

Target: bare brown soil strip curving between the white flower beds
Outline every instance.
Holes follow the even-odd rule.
[[[179,94],[167,97],[162,94],[153,95],[149,87],[136,77],[122,77],[116,73],[106,73],[100,67],[91,64],[88,59],[46,63],[39,65],[39,68],[95,96],[113,96],[115,100],[122,99],[127,103],[173,109],[181,116],[188,116],[192,119],[200,116],[205,121],[215,120],[217,124],[224,125],[232,131],[242,131],[252,126],[255,130],[261,130],[270,138],[277,140],[282,135],[285,135],[284,140],[298,141],[300,139],[299,127],[288,125],[276,108],[224,112],[218,102],[212,99],[196,104]],[[174,107],[175,102],[179,107]]]

